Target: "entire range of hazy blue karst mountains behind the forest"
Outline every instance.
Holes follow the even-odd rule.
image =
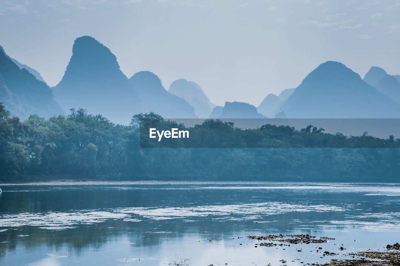
[[[75,40],[64,76],[53,88],[0,46],[0,101],[22,119],[84,108],[125,125],[132,115],[150,111],[165,118],[400,118],[400,75],[371,67],[361,79],[344,64],[328,61],[298,87],[268,94],[258,107],[236,101],[216,106],[193,81],[178,79],[167,91],[150,71],[128,79],[106,46],[82,36]]]

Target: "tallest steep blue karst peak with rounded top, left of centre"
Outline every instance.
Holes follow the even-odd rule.
[[[138,93],[120,70],[115,55],[90,36],[75,40],[54,94],[65,110],[84,108],[119,124],[129,124],[132,115],[142,110]]]

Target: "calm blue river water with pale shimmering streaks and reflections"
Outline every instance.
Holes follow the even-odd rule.
[[[349,252],[386,250],[400,242],[398,184],[88,183],[1,189],[1,265],[168,265],[177,259],[189,259],[188,265],[304,265],[300,262],[348,258]],[[254,248],[258,241],[245,238],[269,234],[335,240]],[[323,251],[339,255],[322,256]]]

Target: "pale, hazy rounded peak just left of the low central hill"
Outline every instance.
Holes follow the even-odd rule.
[[[194,107],[196,115],[200,118],[209,117],[212,109],[215,107],[207,95],[204,94],[202,88],[193,81],[177,79],[171,83],[168,92],[188,101]]]

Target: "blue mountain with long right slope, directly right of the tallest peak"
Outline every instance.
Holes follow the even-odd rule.
[[[154,73],[138,72],[129,82],[142,99],[144,111],[153,111],[164,118],[196,118],[194,108],[185,99],[166,91]]]

